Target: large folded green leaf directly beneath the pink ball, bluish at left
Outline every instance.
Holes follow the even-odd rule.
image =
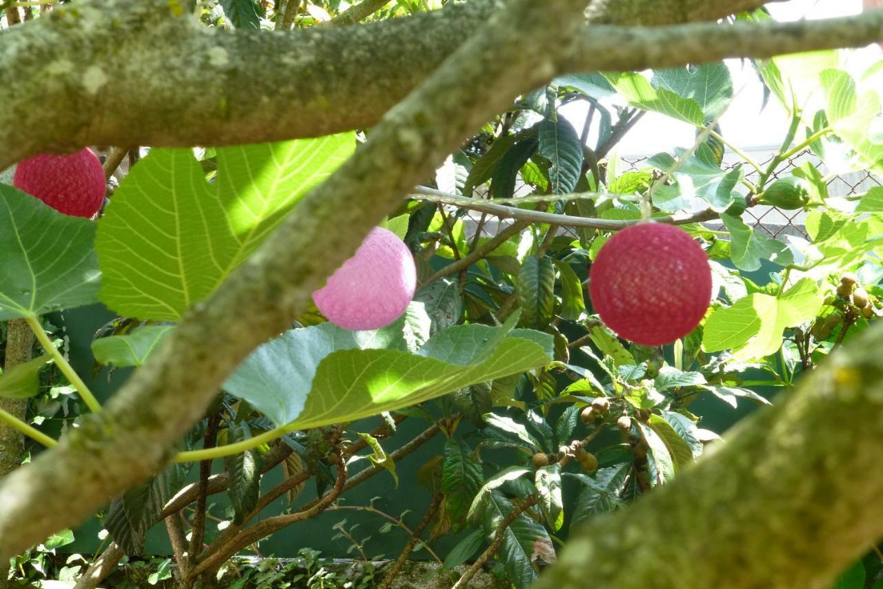
[[[352,421],[549,363],[552,336],[513,331],[515,321],[517,313],[501,327],[457,325],[417,353],[400,349],[400,332],[294,329],[255,350],[224,388],[276,425]]]

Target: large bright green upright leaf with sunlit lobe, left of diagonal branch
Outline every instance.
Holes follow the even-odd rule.
[[[175,320],[250,256],[350,156],[352,134],[217,149],[205,180],[190,149],[152,149],[98,224],[101,299],[126,317]]]

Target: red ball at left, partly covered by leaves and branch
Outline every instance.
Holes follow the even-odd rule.
[[[102,163],[88,148],[67,156],[42,153],[19,162],[12,185],[58,212],[86,218],[102,208],[107,190]]]

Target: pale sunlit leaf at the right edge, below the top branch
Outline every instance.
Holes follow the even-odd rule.
[[[878,88],[858,94],[856,81],[837,69],[823,71],[819,78],[825,89],[826,114],[834,133],[849,143],[865,166],[883,173],[883,134],[874,133],[880,117]]]

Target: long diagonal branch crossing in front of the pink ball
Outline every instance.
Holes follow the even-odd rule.
[[[306,310],[313,291],[387,211],[483,121],[559,69],[552,52],[524,51],[525,36],[566,50],[583,7],[582,0],[517,0],[389,111],[356,154],[298,205],[310,214],[286,218],[222,288],[188,311],[101,414],[82,417],[58,447],[0,481],[0,559],[79,524],[162,468],[173,442],[202,417],[230,372]],[[335,30],[347,28],[358,27]],[[264,109],[252,103],[249,110]],[[208,343],[214,341],[225,345]]]

